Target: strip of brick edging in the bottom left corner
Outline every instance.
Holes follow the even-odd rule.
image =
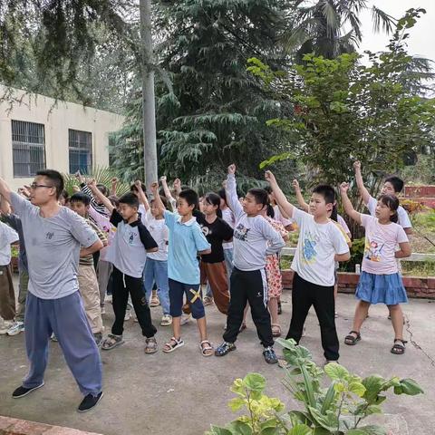
[[[13,419],[0,415],[0,435],[99,435],[94,432],[52,426],[36,421]]]

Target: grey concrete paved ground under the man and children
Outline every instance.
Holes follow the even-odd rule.
[[[285,292],[284,300],[290,300]],[[354,299],[340,295],[337,319],[340,338],[351,328]],[[281,322],[286,331],[290,304],[283,304]],[[108,305],[105,325],[113,319]],[[392,396],[387,401],[387,418],[400,424],[397,435],[433,435],[435,433],[435,304],[412,300],[405,307],[408,319],[406,339],[410,340],[403,356],[390,353],[392,329],[384,306],[374,306],[362,331],[362,342],[356,347],[342,346],[341,363],[362,376],[373,372],[382,376],[398,375],[413,378],[426,391],[417,397]],[[158,324],[160,308],[152,309]],[[224,318],[216,307],[207,307],[209,337],[221,341]],[[160,346],[170,337],[170,329],[160,327]],[[51,361],[45,386],[21,400],[13,400],[11,392],[20,384],[27,370],[24,337],[0,336],[0,414],[25,420],[68,426],[106,435],[121,433],[163,435],[204,433],[210,423],[223,424],[232,420],[227,408],[232,394],[229,386],[247,372],[261,372],[267,379],[267,392],[278,396],[287,409],[298,404],[285,391],[283,372],[268,366],[261,355],[254,325],[249,319],[247,331],[239,336],[238,349],[224,358],[204,358],[198,351],[198,333],[191,322],[183,329],[186,345],[178,351],[145,355],[139,325],[126,324],[126,343],[102,353],[104,364],[104,398],[97,409],[79,414],[80,393],[68,371],[58,343],[51,346]],[[314,314],[306,324],[303,344],[314,353],[314,360],[323,362],[319,329]],[[279,351],[279,349],[278,349]]]

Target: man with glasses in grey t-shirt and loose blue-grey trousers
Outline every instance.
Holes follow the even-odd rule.
[[[30,188],[28,201],[0,178],[0,195],[23,224],[29,268],[24,328],[30,369],[13,397],[22,398],[43,386],[54,333],[84,396],[78,411],[89,411],[102,398],[102,361],[78,291],[77,270],[79,256],[101,249],[102,242],[83,218],[59,205],[63,191],[59,172],[37,172]]]

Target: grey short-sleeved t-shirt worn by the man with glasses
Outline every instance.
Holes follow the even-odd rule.
[[[29,292],[41,299],[59,299],[79,289],[80,247],[98,236],[86,221],[62,207],[53,218],[42,218],[39,207],[11,193],[14,212],[21,218],[29,260]]]

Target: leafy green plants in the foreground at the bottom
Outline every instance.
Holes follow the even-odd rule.
[[[381,426],[362,426],[370,415],[382,413],[386,392],[411,396],[423,392],[411,379],[385,379],[378,374],[362,379],[335,362],[322,369],[294,340],[277,343],[284,347],[285,387],[304,410],[285,412],[282,401],[264,393],[266,379],[248,373],[233,383],[231,391],[237,397],[229,401],[232,411],[246,409],[247,414],[225,427],[211,425],[207,435],[386,435]],[[327,388],[322,386],[325,377],[330,382]]]

